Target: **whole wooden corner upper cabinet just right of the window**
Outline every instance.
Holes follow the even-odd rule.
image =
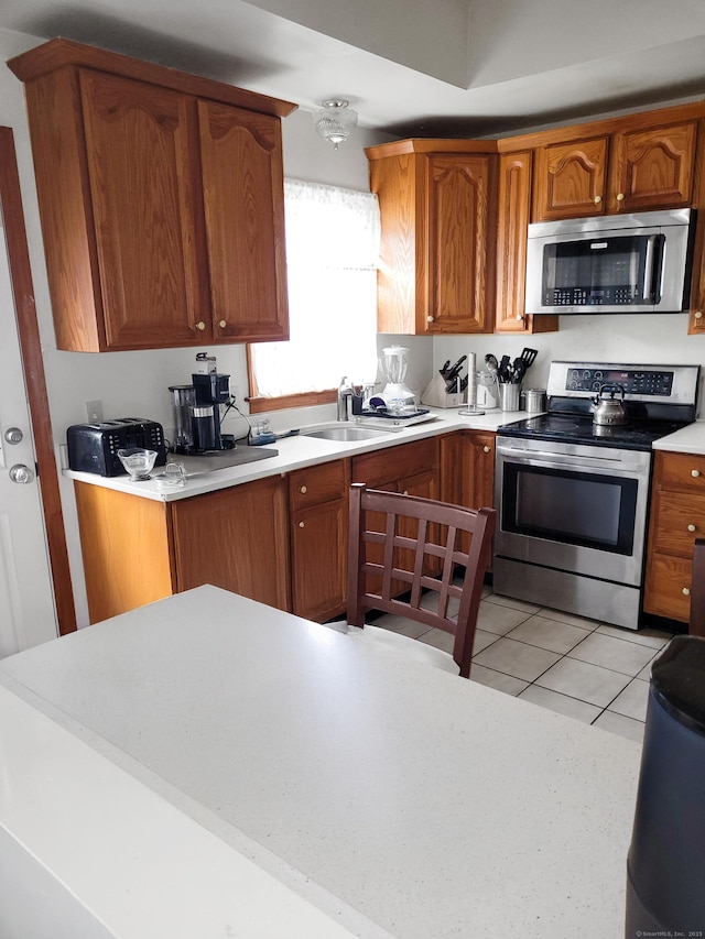
[[[496,149],[405,140],[365,151],[382,220],[380,332],[492,330]]]

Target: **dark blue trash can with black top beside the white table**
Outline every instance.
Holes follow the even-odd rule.
[[[626,939],[705,936],[705,638],[676,636],[651,669],[627,859]]]

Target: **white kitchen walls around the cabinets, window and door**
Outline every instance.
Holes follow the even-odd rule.
[[[39,40],[0,30],[0,58],[4,62]],[[0,67],[0,123],[14,130],[20,178],[24,204],[30,258],[34,277],[37,316],[44,351],[48,397],[52,410],[54,438],[58,445],[65,439],[66,427],[86,419],[84,402],[100,400],[108,416],[145,416],[165,427],[173,424],[169,385],[188,381],[196,349],[174,349],[144,352],[111,352],[84,354],[56,350],[48,301],[48,287],[42,248],[36,193],[32,168],[29,132],[21,83],[9,69]],[[380,134],[358,129],[355,135],[335,151],[321,140],[303,111],[294,112],[284,121],[285,173],[303,179],[338,184],[367,189],[367,162],[364,148],[384,140]],[[434,368],[445,359],[456,359],[464,352],[475,351],[478,359],[486,352],[501,356],[518,354],[522,346],[540,352],[529,373],[531,384],[545,384],[547,363],[552,358],[581,359],[585,356],[598,360],[634,362],[705,362],[705,337],[686,336],[685,315],[675,316],[620,316],[620,317],[562,317],[561,331],[525,339],[517,337],[444,337],[434,340],[416,337],[380,336],[378,345],[398,342],[411,350],[410,386],[420,391],[431,379]],[[231,385],[241,400],[247,394],[247,374],[243,346],[214,347],[221,372],[231,375]],[[345,357],[341,350],[341,371]],[[247,412],[247,406],[242,405]],[[330,419],[334,406],[275,412],[270,415],[274,430]],[[245,434],[247,425],[239,418],[227,423],[225,429],[236,435]],[[79,622],[87,622],[83,566],[78,541],[73,487],[62,481],[62,499],[67,529],[69,557],[74,572],[77,613]]]

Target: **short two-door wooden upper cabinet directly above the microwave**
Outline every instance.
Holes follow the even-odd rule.
[[[581,129],[571,128],[555,141],[549,134],[536,149],[533,220],[690,206],[697,120],[644,120],[625,118],[623,129],[611,133],[582,129],[572,139]]]

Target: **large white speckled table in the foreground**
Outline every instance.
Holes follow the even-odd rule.
[[[623,928],[631,741],[213,587],[0,686],[0,894],[72,939]]]

